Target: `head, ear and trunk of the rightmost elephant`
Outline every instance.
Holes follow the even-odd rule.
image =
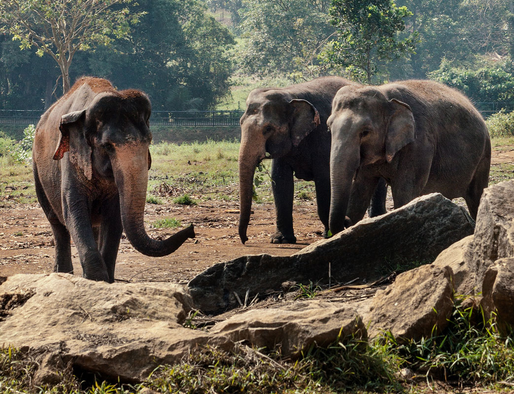
[[[329,228],[345,227],[352,181],[359,167],[391,163],[400,149],[416,138],[409,105],[388,100],[377,88],[345,86],[332,103],[327,120],[332,133]],[[355,219],[350,217],[350,221]]]

